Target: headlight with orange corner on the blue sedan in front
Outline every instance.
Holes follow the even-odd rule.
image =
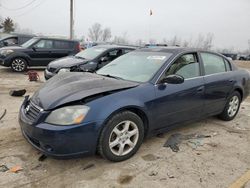
[[[89,111],[88,106],[76,105],[59,108],[52,111],[45,122],[54,125],[80,124]]]

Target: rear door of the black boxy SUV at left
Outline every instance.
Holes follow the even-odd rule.
[[[54,40],[54,48],[51,51],[53,59],[71,55],[74,50],[74,42]]]

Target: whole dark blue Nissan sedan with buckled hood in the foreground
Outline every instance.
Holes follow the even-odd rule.
[[[58,74],[21,105],[24,137],[48,156],[130,158],[145,137],[218,115],[234,119],[250,75],[224,56],[143,48],[93,73]]]

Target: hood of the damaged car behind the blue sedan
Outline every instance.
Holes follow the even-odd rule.
[[[78,64],[87,63],[88,60],[76,58],[75,56],[67,56],[55,61],[52,61],[48,66],[49,68],[63,68],[63,67],[72,67]]]

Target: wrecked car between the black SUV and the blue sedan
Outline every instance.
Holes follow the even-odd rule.
[[[94,72],[115,58],[126,54],[134,47],[119,45],[98,45],[76,54],[52,61],[44,71],[46,80],[59,72]]]

